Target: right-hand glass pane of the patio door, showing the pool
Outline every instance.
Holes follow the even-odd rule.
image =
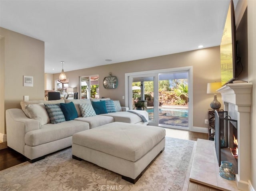
[[[188,71],[159,74],[159,126],[188,128]]]

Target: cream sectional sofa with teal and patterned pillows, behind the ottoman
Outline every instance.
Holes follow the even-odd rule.
[[[106,112],[105,108],[105,112],[97,111],[94,104],[101,106],[105,101],[112,104],[112,111]],[[72,135],[77,132],[112,122],[148,124],[146,111],[140,111],[144,112],[141,117],[141,114],[137,115],[121,107],[118,100],[108,98],[32,100],[20,104],[21,109],[6,110],[7,145],[26,156],[30,162],[71,146]]]

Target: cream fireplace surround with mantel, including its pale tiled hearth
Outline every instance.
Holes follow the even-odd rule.
[[[220,177],[214,141],[198,139],[190,172],[190,181],[224,191],[248,191],[250,179],[250,106],[252,83],[230,83],[217,91],[221,93],[224,110],[237,120],[238,173],[236,180]]]

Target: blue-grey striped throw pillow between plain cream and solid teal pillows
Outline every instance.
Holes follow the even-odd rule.
[[[48,112],[52,124],[66,121],[65,116],[60,108],[60,104],[45,104],[45,108]]]

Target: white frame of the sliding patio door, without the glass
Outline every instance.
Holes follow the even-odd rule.
[[[125,73],[125,106],[132,109],[132,77],[154,77],[154,103],[158,102],[158,75],[161,73],[172,73],[172,72],[188,72],[188,128],[178,128],[183,130],[193,129],[193,67],[178,67],[170,69],[160,69],[151,71],[140,71]],[[130,101],[129,101],[130,100]],[[154,104],[154,108],[158,110],[157,106]],[[156,111],[155,110],[155,111]],[[157,124],[156,124],[157,123]],[[154,122],[150,122],[150,125],[158,126],[158,115],[154,112]]]

